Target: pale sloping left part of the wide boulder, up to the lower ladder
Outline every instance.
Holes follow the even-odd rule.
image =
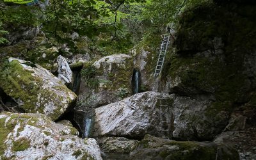
[[[120,102],[96,108],[93,136],[143,138],[147,133],[170,136],[172,113],[168,109],[166,114],[168,122],[161,123],[161,98],[163,98],[161,93],[144,92]],[[166,104],[172,104],[170,97],[166,97]],[[163,129],[168,131],[161,132]]]

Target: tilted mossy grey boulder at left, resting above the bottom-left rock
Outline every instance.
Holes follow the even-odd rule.
[[[4,63],[0,88],[26,113],[44,113],[56,120],[76,102],[76,94],[45,68],[15,58]]]

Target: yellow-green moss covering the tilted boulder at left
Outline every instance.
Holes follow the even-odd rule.
[[[56,109],[53,113],[48,113],[48,115],[55,120],[62,114],[60,108],[63,107],[61,106],[63,97],[56,95],[56,93],[47,88],[41,88],[44,83],[42,79],[32,76],[33,71],[25,70],[18,60],[12,60],[10,63],[6,61],[5,63],[6,65],[0,69],[0,79],[1,81],[3,80],[0,87],[10,97],[24,102],[24,104],[20,105],[20,108],[24,109],[26,113],[36,113],[37,111],[45,113],[45,104],[49,102],[49,97],[51,97],[54,100]],[[54,89],[70,93],[70,90],[63,84],[56,86]],[[40,99],[40,102],[38,102],[39,93],[44,98]],[[67,97],[67,101],[71,102],[70,97]]]

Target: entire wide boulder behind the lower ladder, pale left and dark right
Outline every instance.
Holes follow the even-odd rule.
[[[93,136],[142,138],[145,134],[179,140],[212,140],[230,114],[210,100],[143,92],[95,109]]]

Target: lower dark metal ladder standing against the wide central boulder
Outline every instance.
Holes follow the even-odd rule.
[[[161,125],[161,132],[162,135],[166,136],[169,134],[170,131],[170,108],[168,106],[168,98],[159,98],[159,111],[160,111],[160,125]]]

